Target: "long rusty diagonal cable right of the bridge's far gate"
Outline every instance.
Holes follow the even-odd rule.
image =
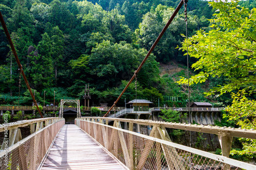
[[[121,94],[119,95],[119,97],[117,98],[116,102],[114,102],[113,106],[109,109],[108,112],[106,112],[106,114],[103,116],[105,117],[106,115],[109,114],[109,112],[112,110],[112,108],[114,106],[116,106],[117,102],[119,101],[119,99],[121,98],[121,96],[123,95],[123,93],[125,92],[125,90],[129,87],[129,85],[132,83],[133,79],[135,78],[135,76],[138,74],[138,72],[140,71],[141,67],[143,66],[143,64],[146,62],[147,58],[150,56],[150,54],[153,52],[154,48],[156,47],[157,43],[159,42],[159,40],[162,38],[164,32],[167,30],[167,28],[169,27],[170,23],[173,21],[174,17],[177,15],[177,13],[179,12],[179,10],[181,9],[182,5],[184,4],[183,0],[180,1],[180,4],[178,5],[178,7],[175,9],[173,15],[170,17],[170,19],[168,20],[168,22],[166,23],[166,25],[164,26],[163,30],[161,31],[161,33],[159,34],[159,36],[157,37],[156,41],[154,42],[154,44],[152,45],[152,47],[150,48],[150,51],[148,51],[146,57],[143,59],[143,61],[141,62],[140,66],[138,67],[138,69],[134,72],[133,77],[131,78],[131,80],[128,82],[128,84],[124,87],[123,91],[121,92]]]

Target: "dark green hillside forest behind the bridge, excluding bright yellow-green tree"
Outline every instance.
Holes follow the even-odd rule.
[[[43,103],[45,91],[46,104],[53,103],[54,91],[56,101],[81,99],[84,85],[89,83],[93,102],[113,104],[178,3],[2,0],[0,10],[30,86],[37,92],[37,101]],[[208,27],[211,7],[199,0],[190,4],[188,34],[192,35],[195,30]],[[155,103],[160,99],[163,104],[164,95],[179,96],[181,103],[165,104],[185,106],[186,91],[180,92],[181,86],[173,85],[169,75],[160,77],[158,63],[185,63],[183,52],[176,49],[184,33],[184,14],[180,10],[138,75],[138,98]],[[20,100],[13,100],[12,96],[18,95],[19,72],[2,28],[0,39],[2,103],[30,105],[23,80]],[[135,90],[128,90],[122,102],[124,98],[134,99]]]

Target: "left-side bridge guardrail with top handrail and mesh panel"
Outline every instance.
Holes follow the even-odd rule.
[[[64,118],[49,117],[0,125],[0,132],[5,133],[1,169],[37,169],[64,124]],[[22,139],[18,128],[25,126],[30,126],[31,135]]]

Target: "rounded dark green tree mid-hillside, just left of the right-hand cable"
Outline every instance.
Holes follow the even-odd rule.
[[[131,44],[103,40],[93,48],[89,60],[91,74],[97,76],[95,85],[100,89],[115,87],[120,80],[129,78],[139,64],[138,56],[139,51]]]

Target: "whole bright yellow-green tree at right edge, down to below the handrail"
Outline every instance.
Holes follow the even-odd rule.
[[[210,20],[211,30],[208,33],[198,31],[180,48],[186,51],[188,47],[190,57],[198,59],[192,67],[200,72],[191,76],[190,83],[202,83],[209,77],[218,79],[224,76],[225,83],[213,87],[206,95],[232,92],[233,102],[224,117],[235,120],[242,128],[255,129],[256,9],[241,7],[238,1],[209,4],[216,10],[215,18]],[[178,81],[187,82],[185,78]],[[248,139],[242,143],[244,151],[239,154],[255,153],[255,140]]]

